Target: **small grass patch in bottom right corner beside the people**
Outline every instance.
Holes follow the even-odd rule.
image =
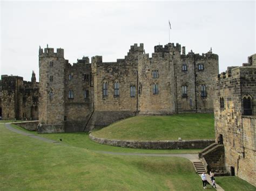
[[[220,185],[224,190],[252,190],[255,191],[256,187],[250,185],[250,183],[246,182],[238,178],[237,176],[223,176],[216,177],[216,183]]]

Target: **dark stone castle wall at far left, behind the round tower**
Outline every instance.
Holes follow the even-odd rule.
[[[32,73],[32,75],[35,73]],[[39,85],[23,77],[2,75],[2,119],[38,119]]]

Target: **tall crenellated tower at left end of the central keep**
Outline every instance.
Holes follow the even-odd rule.
[[[39,48],[39,133],[64,132],[66,63],[64,49]]]

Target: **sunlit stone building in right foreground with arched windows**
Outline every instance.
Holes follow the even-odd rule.
[[[256,67],[228,67],[214,84],[216,142],[225,147],[225,165],[233,166],[235,175],[256,185],[255,177],[255,105]],[[252,97],[252,115],[244,115],[243,97]],[[220,98],[224,98],[221,107]]]

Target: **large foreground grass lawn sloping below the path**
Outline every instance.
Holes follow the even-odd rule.
[[[184,158],[100,154],[44,143],[0,124],[0,188],[201,190],[201,180]]]

